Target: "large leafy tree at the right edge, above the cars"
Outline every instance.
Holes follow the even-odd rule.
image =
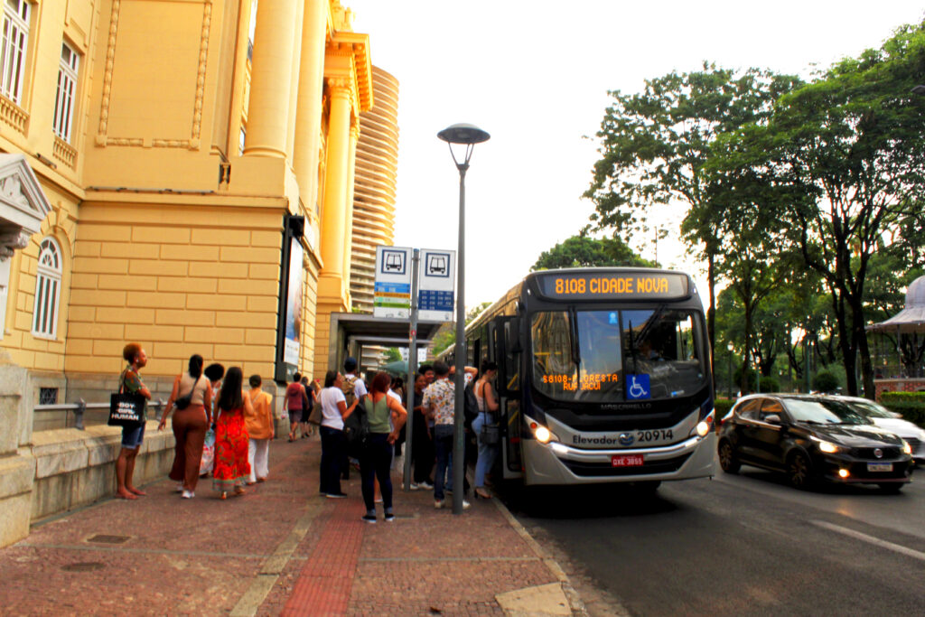
[[[851,394],[858,360],[864,392],[874,391],[864,312],[870,259],[888,230],[921,216],[925,102],[910,90],[923,71],[925,30],[903,27],[881,49],[784,94],[767,123],[721,136],[710,164],[722,170],[711,176],[717,181],[757,174],[778,191],[776,216],[831,294]]]

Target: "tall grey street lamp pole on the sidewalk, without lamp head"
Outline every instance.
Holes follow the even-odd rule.
[[[456,403],[453,410],[453,513],[462,514],[465,487],[465,433],[462,427],[465,397],[465,172],[468,162],[459,163],[460,223],[456,258]]]

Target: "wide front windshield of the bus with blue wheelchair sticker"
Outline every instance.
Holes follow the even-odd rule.
[[[532,315],[533,382],[560,401],[690,395],[708,379],[696,311],[667,308],[540,311]]]

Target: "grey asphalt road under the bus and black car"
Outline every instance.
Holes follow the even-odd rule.
[[[925,470],[898,495],[719,474],[505,500],[592,615],[925,614]]]

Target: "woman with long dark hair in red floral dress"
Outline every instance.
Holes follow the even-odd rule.
[[[253,407],[241,390],[243,380],[240,366],[229,368],[216,405],[216,468],[212,486],[221,492],[223,500],[231,490],[235,495],[243,495],[244,483],[251,475],[244,416],[253,415]]]

